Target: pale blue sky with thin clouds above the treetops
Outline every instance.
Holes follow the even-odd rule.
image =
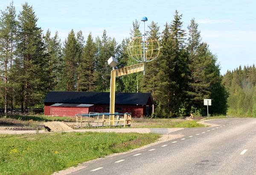
[[[183,14],[183,28],[192,18],[199,24],[202,40],[209,44],[218,57],[221,74],[239,65],[256,63],[256,0],[13,0],[17,13],[22,4],[32,5],[38,17],[38,26],[58,31],[62,41],[70,30],[81,30],[87,38],[101,36],[103,30],[109,37],[121,42],[130,36],[132,22],[148,17],[160,25],[171,23],[175,10]],[[1,0],[4,10],[10,0]],[[143,31],[143,23],[141,23]]]

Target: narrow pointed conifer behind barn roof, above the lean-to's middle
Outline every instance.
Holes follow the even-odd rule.
[[[65,90],[74,91],[76,86],[76,58],[77,58],[77,41],[73,29],[68,34],[64,42],[63,48],[63,75],[62,83],[65,85]]]

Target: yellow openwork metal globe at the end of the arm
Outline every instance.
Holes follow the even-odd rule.
[[[153,37],[145,36],[144,56],[144,35],[138,35],[129,42],[128,54],[137,62],[150,62],[160,54],[160,43]]]

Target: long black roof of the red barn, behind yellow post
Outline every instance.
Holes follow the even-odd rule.
[[[48,92],[45,103],[109,104],[109,92]],[[115,104],[145,105],[151,93],[116,93]]]

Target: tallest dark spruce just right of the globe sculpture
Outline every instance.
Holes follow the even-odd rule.
[[[156,93],[159,102],[156,112],[161,116],[183,116],[187,112],[189,71],[181,17],[175,11],[174,20],[162,34],[161,65],[157,75],[160,82]]]

